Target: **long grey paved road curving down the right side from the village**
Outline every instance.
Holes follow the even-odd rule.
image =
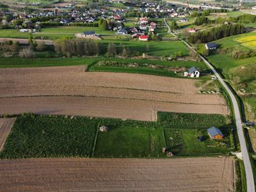
[[[173,34],[173,32],[170,30],[170,26],[168,25],[168,23],[166,21],[165,21],[165,25],[168,27],[168,32],[170,34],[177,37],[178,40],[182,41],[184,44],[187,45],[187,47],[192,49],[194,52],[197,52],[190,44],[188,44],[184,40],[180,39],[177,35]],[[243,133],[243,126],[242,126],[242,121],[241,121],[241,118],[240,118],[240,111],[239,111],[239,107],[238,107],[238,102],[235,100],[235,95],[233,95],[233,92],[231,91],[230,88],[228,88],[228,85],[226,85],[223,78],[221,78],[219,73],[215,70],[214,66],[212,66],[209,63],[209,61],[207,61],[204,58],[204,56],[199,55],[199,57],[202,59],[202,61],[204,61],[204,64],[206,64],[206,66],[209,66],[209,68],[211,68],[211,70],[214,72],[215,76],[221,82],[221,85],[223,85],[223,88],[226,89],[226,91],[228,92],[228,94],[231,97],[231,101],[232,101],[232,104],[233,104],[233,109],[234,109],[234,112],[235,112],[235,123],[236,123],[236,128],[238,130],[238,138],[239,138],[239,142],[240,142],[240,148],[241,148],[241,152],[242,152],[242,155],[243,155],[243,162],[245,164],[245,175],[246,175],[246,181],[247,181],[247,191],[248,192],[254,192],[255,191],[255,184],[254,184],[254,180],[253,180],[252,167],[251,167],[251,164],[250,164],[248,149],[247,149],[247,146],[246,146],[245,136],[244,136],[244,133]]]

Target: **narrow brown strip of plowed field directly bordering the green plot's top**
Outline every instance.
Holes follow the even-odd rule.
[[[224,105],[182,104],[103,97],[11,97],[0,99],[0,114],[63,114],[156,121],[157,112],[228,114]],[[153,115],[152,115],[153,114]]]

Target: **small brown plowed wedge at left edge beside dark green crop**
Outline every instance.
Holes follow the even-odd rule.
[[[15,118],[0,119],[0,151],[4,148],[4,143],[6,142],[8,133],[11,131],[14,121]]]

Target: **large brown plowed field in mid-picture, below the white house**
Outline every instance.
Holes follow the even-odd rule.
[[[223,98],[197,94],[195,81],[130,73],[84,72],[82,66],[2,68],[0,114],[45,112],[145,121],[155,121],[156,111],[161,110],[228,114]]]

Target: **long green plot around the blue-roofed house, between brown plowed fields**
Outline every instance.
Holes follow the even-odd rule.
[[[227,154],[228,148],[207,136],[202,143],[197,140],[206,135],[206,128],[219,125],[226,136],[223,141],[233,143],[225,116],[166,112],[159,116],[157,122],[145,122],[25,114],[18,116],[0,157],[165,157],[161,152],[165,147],[178,156]],[[103,125],[110,130],[97,133]]]

